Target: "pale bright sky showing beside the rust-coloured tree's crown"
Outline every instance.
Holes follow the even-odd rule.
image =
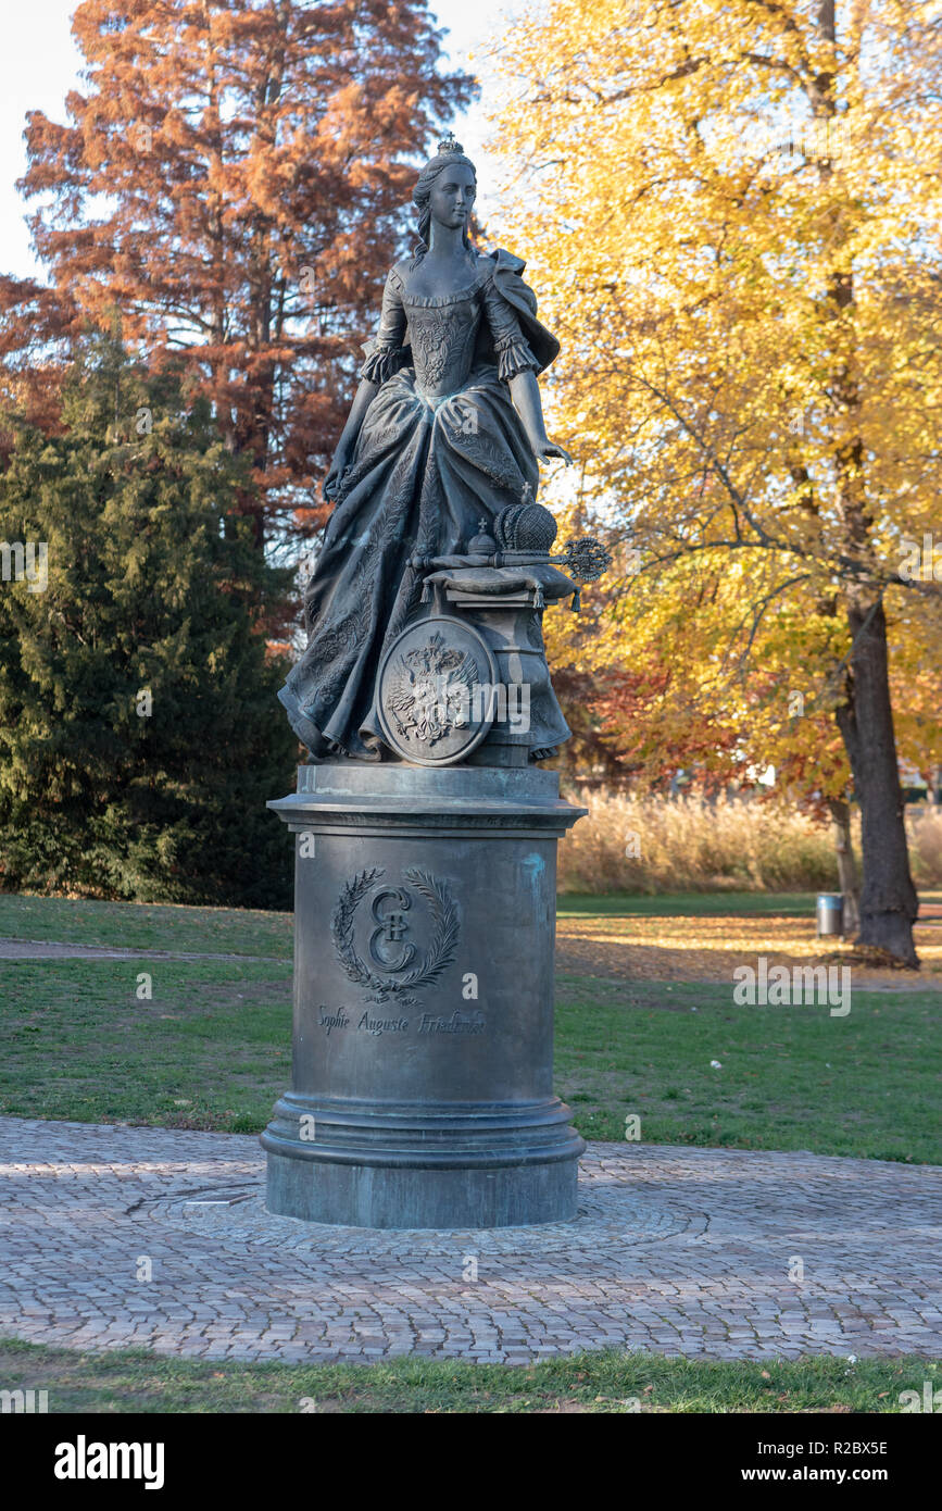
[[[45,110],[65,121],[65,97],[78,86],[80,57],[72,42],[71,18],[77,0],[15,0],[5,5],[0,51],[0,273],[36,277],[38,269],[24,221],[27,202],[15,183],[26,172],[23,130],[27,110]],[[519,0],[432,0],[438,24],[448,29],[447,47],[453,66],[476,73],[469,62],[494,30],[501,12]],[[480,107],[454,122],[454,134],[479,165],[486,186],[488,165],[482,142],[486,125]],[[433,144],[432,144],[433,145]],[[486,196],[482,196],[486,213]]]

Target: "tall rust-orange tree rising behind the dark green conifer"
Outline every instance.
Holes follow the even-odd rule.
[[[319,482],[411,162],[469,98],[426,0],[83,0],[85,88],[27,116],[32,230],[51,289],[0,280],[0,382],[51,423],[60,343],[86,320],[183,352],[251,462],[257,538],[322,518]]]

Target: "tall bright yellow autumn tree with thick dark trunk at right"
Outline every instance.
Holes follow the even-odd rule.
[[[797,635],[860,804],[860,941],[915,964],[888,616],[919,600],[937,656],[940,583],[903,567],[942,518],[937,6],[550,0],[503,68],[559,423],[637,580],[691,620],[722,582],[750,651]]]

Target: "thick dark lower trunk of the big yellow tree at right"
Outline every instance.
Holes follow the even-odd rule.
[[[886,615],[880,598],[867,601],[867,594],[854,592],[847,616],[854,645],[848,668],[848,700],[836,710],[836,718],[862,819],[864,888],[856,943],[886,949],[906,966],[918,969],[912,935],[918,901],[909,873],[903,790],[889,701]]]

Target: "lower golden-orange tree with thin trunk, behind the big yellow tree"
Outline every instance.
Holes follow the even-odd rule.
[[[586,521],[569,515],[566,527],[578,532]],[[592,529],[604,532],[604,520]],[[800,589],[782,591],[764,613],[761,583],[743,582],[741,562],[710,570],[706,555],[684,555],[652,574],[636,571],[633,555],[616,545],[614,571],[583,589],[581,615],[548,616],[554,681],[575,736],[560,763],[578,772],[589,762],[607,780],[620,774],[654,789],[684,771],[711,790],[761,793],[773,768],[768,796],[787,793],[832,827],[844,923],[856,932],[851,774],[833,718],[850,635],[835,600],[812,613]],[[897,749],[927,783],[942,749],[940,630],[931,598],[895,595],[888,635]]]

